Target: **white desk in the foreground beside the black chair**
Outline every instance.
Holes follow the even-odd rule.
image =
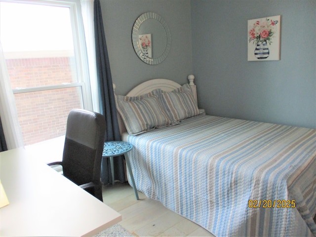
[[[48,151],[49,152],[49,151]],[[121,215],[24,149],[0,153],[0,179],[10,204],[0,208],[0,236],[93,236]]]

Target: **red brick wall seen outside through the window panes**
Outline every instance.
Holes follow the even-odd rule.
[[[71,57],[7,59],[11,87],[71,83]],[[24,145],[65,134],[70,110],[81,108],[80,87],[14,94]]]

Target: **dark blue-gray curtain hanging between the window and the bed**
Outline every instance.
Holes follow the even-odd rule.
[[[96,64],[99,83],[100,111],[106,118],[106,141],[119,141],[117,109],[115,105],[108,49],[105,41],[100,0],[94,0],[94,35],[96,48]],[[101,180],[104,185],[112,182],[109,158],[103,158],[101,163]],[[125,182],[123,157],[114,158],[115,180]]]

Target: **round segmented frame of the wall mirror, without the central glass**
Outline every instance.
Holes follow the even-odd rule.
[[[164,28],[164,30],[166,32],[167,44],[166,44],[166,47],[165,47],[163,53],[158,58],[147,57],[143,53],[143,51],[141,50],[141,46],[139,45],[138,31],[139,31],[141,24],[144,21],[146,21],[147,19],[157,20],[162,25],[162,27]],[[132,43],[133,43],[135,53],[143,62],[150,64],[150,65],[159,64],[167,57],[167,55],[170,51],[170,47],[171,47],[170,29],[169,29],[167,23],[165,22],[165,20],[160,15],[158,15],[155,12],[145,12],[142,15],[140,15],[134,23],[133,30],[132,30]]]

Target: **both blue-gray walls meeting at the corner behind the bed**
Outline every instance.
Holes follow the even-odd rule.
[[[316,128],[316,0],[101,0],[117,94],[152,78],[196,76],[207,114]],[[137,58],[131,30],[146,11],[171,30],[165,61]],[[247,61],[247,20],[281,15],[280,61]]]

